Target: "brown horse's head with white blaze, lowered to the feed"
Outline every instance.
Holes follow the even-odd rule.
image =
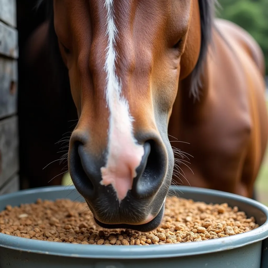
[[[208,0],[53,1],[79,116],[69,172],[104,228],[147,231],[162,220],[174,166],[168,122],[179,81],[193,77],[195,92],[211,6]]]

